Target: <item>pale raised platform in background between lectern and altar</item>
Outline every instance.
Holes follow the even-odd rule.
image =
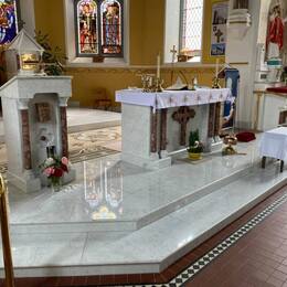
[[[92,108],[67,108],[67,131],[78,132],[92,129],[120,126],[120,113]],[[3,118],[0,117],[0,144],[4,142]]]

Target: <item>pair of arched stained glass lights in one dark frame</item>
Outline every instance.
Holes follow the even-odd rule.
[[[77,56],[123,56],[123,0],[76,0]]]

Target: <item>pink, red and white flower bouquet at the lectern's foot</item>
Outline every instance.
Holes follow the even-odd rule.
[[[60,188],[61,179],[68,172],[70,161],[66,157],[50,157],[41,166],[43,174],[47,177],[53,188]]]

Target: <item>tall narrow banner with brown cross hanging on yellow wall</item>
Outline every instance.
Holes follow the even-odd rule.
[[[216,2],[212,6],[211,56],[224,56],[227,34],[228,2]]]

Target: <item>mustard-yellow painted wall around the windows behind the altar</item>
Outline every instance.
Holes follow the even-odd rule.
[[[35,3],[35,23],[36,30],[49,33],[51,43],[65,49],[65,30],[64,30],[64,0],[34,0]],[[211,2],[205,0],[205,10],[211,9]],[[164,0],[130,0],[129,1],[129,52],[131,65],[156,65],[156,56],[163,53],[164,36]],[[57,9],[54,9],[57,7]],[[205,15],[209,15],[209,11]],[[206,18],[205,18],[206,19]],[[204,43],[210,38],[211,24],[204,23]],[[205,47],[205,45],[204,45]],[[209,50],[209,49],[208,49]],[[203,51],[203,55],[206,51]],[[209,62],[209,61],[206,61]],[[145,67],[135,68],[75,68],[70,67],[66,74],[72,75],[73,97],[72,100],[81,103],[81,106],[93,106],[95,100],[95,88],[105,87],[108,97],[114,100],[115,91],[128,86],[140,86],[138,73],[152,72]],[[191,79],[196,75],[199,83],[211,85],[211,68],[185,68],[187,77]],[[170,71],[162,71],[166,83],[170,85]]]

